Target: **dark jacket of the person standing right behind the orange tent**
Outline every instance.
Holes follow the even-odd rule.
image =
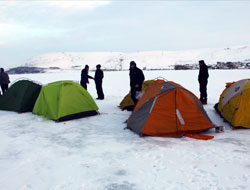
[[[136,85],[142,86],[142,83],[145,79],[142,70],[138,67],[130,68],[129,77],[131,88],[135,88]]]

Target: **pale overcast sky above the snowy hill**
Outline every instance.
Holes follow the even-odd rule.
[[[0,1],[0,67],[47,52],[250,44],[250,1]]]

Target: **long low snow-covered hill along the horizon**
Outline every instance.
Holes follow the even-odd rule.
[[[128,69],[134,60],[139,67],[146,69],[169,69],[174,65],[197,64],[204,59],[207,64],[217,62],[237,62],[250,60],[250,46],[235,46],[220,49],[201,49],[189,51],[147,51],[136,53],[120,52],[56,52],[35,56],[24,66],[61,69],[81,69],[88,64],[95,69],[101,64],[103,69]]]

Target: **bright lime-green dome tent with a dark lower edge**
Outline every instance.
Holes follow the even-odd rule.
[[[43,86],[33,113],[55,121],[96,115],[98,106],[78,83],[58,81]]]

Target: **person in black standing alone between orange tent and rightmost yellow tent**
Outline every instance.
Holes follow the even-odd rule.
[[[199,76],[198,81],[200,84],[200,101],[202,104],[207,104],[207,82],[208,82],[208,68],[204,60],[199,61]]]

